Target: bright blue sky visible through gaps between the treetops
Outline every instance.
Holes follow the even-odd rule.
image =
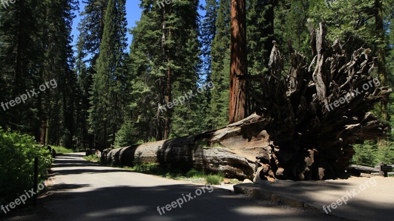
[[[139,21],[141,17],[141,8],[139,7],[140,0],[127,0],[126,1],[126,18],[127,18],[127,28],[131,29],[132,27],[135,27],[135,22]],[[200,0],[200,3],[205,5],[205,0]],[[79,32],[77,30],[78,23],[81,20],[81,17],[79,16],[79,13],[83,11],[85,5],[82,3],[82,0],[79,0],[79,11],[75,11],[76,18],[74,19],[72,23],[72,32],[71,34],[73,35],[73,45],[75,45],[76,40],[78,39]],[[203,13],[203,11],[198,11],[200,14]],[[128,37],[128,44],[130,45],[132,36],[128,32],[127,33]],[[76,50],[74,48],[74,50]],[[129,50],[129,47],[127,48]]]

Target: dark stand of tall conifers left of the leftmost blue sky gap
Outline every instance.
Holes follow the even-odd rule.
[[[50,120],[48,140],[69,145],[74,133],[77,93],[71,46],[76,0],[24,0],[0,8],[0,100],[35,91],[50,79],[58,87],[40,92],[1,113],[0,126],[40,139],[41,123]],[[1,108],[1,111],[2,108]]]

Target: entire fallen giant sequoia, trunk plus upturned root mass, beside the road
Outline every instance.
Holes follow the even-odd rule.
[[[291,67],[285,76],[276,45],[265,75],[238,76],[260,83],[260,93],[254,93],[257,114],[197,135],[105,151],[102,158],[131,165],[140,151],[164,166],[223,171],[235,178],[337,177],[354,154],[351,144],[384,137],[382,124],[368,111],[392,90],[372,79],[369,49],[355,51],[347,61],[339,41],[331,45],[325,38],[324,25],[309,26],[311,64],[289,42]]]

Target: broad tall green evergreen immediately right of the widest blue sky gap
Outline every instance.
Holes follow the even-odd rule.
[[[197,104],[197,99],[192,98],[191,103],[187,101],[176,107],[164,105],[197,88],[201,65],[198,58],[198,1],[179,0],[163,5],[152,2],[141,0],[141,20],[131,32],[129,63],[133,77],[130,107],[133,124],[149,126],[140,132],[148,130],[150,136],[155,135],[161,140],[196,127],[192,122],[197,116],[187,113],[192,110],[192,103]],[[189,126],[185,126],[186,122]]]

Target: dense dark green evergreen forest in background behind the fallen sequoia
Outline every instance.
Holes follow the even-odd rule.
[[[132,39],[126,37],[126,0],[83,1],[76,57],[71,26],[77,0],[19,0],[0,9],[0,101],[51,79],[58,84],[0,110],[2,128],[33,135],[42,144],[104,149],[229,124],[231,0],[173,0],[163,7],[140,0]],[[310,19],[316,27],[324,21],[328,38],[339,39],[347,52],[370,48],[377,57],[376,75],[384,86],[393,86],[394,0],[246,0],[246,14],[249,75],[267,70],[274,40],[284,54],[291,39],[296,51],[310,55]],[[285,73],[288,67],[285,59]],[[215,87],[198,93],[208,82]],[[259,93],[251,82],[245,87],[247,94]],[[160,110],[190,92],[196,96]],[[246,102],[245,111],[255,112],[251,96]],[[394,106],[380,103],[374,113],[388,137],[356,150],[389,153]]]

